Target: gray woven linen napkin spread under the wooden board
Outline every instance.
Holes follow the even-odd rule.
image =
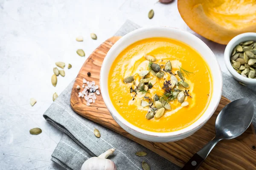
[[[116,36],[123,36],[140,26],[127,21],[116,32]],[[225,73],[223,75],[223,96],[230,100],[239,98],[249,98],[256,106],[256,94],[250,89],[240,85],[232,77]],[[115,162],[118,170],[142,170],[141,162],[147,162],[151,170],[179,170],[180,167],[167,161],[163,157],[148,150],[147,148],[113,132],[101,125],[79,116],[70,107],[70,93],[73,82],[61,93],[44,113],[44,118],[64,132],[61,141],[52,153],[52,161],[60,164],[67,170],[80,170],[81,165],[92,156],[99,156],[110,148],[116,151],[109,157]],[[256,111],[256,109],[255,109]],[[256,116],[253,125],[256,127]],[[97,128],[101,132],[100,138],[95,138],[93,129]],[[144,150],[147,156],[138,157],[135,153]]]

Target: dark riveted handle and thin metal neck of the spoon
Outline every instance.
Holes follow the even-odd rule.
[[[208,142],[201,150],[199,150],[191,159],[184,165],[181,170],[197,170],[198,167],[203,163],[204,159],[211,152],[212,148],[220,141],[214,137],[210,142]]]

